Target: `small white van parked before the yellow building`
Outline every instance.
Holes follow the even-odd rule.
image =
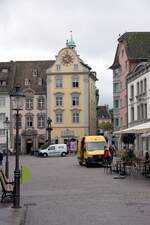
[[[66,156],[68,153],[66,144],[49,145],[43,149],[39,149],[38,155],[43,157],[48,156]]]

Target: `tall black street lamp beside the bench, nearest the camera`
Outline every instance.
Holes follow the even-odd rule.
[[[16,111],[16,151],[15,151],[15,171],[14,171],[14,196],[13,208],[20,208],[20,168],[19,168],[19,111],[23,108],[23,95],[19,86],[10,95],[12,97],[12,107]]]

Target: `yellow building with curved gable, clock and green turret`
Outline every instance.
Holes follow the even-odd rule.
[[[80,59],[71,40],[47,70],[47,115],[58,143],[96,133],[96,73]]]

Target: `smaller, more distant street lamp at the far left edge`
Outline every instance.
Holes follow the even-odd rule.
[[[5,162],[5,175],[7,178],[9,178],[9,160],[8,160],[8,130],[10,121],[8,120],[8,117],[6,117],[4,123],[4,128],[6,130],[6,162]]]

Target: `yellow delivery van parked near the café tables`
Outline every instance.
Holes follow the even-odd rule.
[[[104,147],[106,140],[104,136],[82,137],[77,150],[77,158],[80,165],[97,164],[104,162]]]

